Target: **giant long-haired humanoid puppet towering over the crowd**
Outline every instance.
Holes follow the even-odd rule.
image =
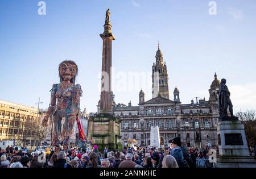
[[[65,60],[59,65],[60,84],[52,86],[51,103],[42,122],[43,126],[47,126],[48,118],[52,116],[51,145],[63,145],[65,151],[70,148],[69,140],[73,135],[76,118],[80,115],[82,90],[79,84],[75,84],[77,73],[74,61]]]

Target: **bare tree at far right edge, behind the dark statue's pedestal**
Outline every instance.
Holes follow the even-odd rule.
[[[245,135],[249,147],[256,147],[256,113],[255,110],[247,110],[245,113],[237,113],[238,118],[245,126]]]

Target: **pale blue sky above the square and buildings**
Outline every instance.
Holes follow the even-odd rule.
[[[109,8],[116,39],[112,87],[117,103],[138,104],[141,86],[121,91],[118,79],[129,72],[150,78],[159,40],[171,98],[177,86],[182,103],[193,97],[208,99],[216,72],[219,79],[227,79],[235,110],[256,109],[255,1],[215,1],[217,15],[209,15],[209,1],[45,0],[43,16],[38,15],[38,2],[0,2],[0,99],[36,107],[40,97],[46,108],[49,90],[59,82],[57,66],[71,59],[79,66],[81,108],[96,111],[102,59],[99,34]],[[150,99],[150,85],[143,90]]]

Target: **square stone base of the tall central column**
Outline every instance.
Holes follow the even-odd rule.
[[[111,114],[94,116],[89,120],[88,139],[92,140],[92,145],[98,145],[98,150],[101,152],[105,147],[109,151],[122,149],[119,118]]]

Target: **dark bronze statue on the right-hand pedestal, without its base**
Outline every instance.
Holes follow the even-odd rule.
[[[229,113],[231,116],[228,116]],[[220,120],[238,120],[233,114],[233,105],[230,100],[230,92],[228,86],[226,86],[226,79],[222,79],[218,91],[218,113],[220,114]]]

